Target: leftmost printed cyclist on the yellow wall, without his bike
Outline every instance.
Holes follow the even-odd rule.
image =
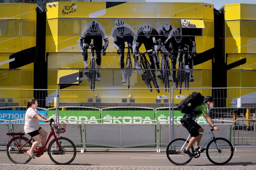
[[[104,40],[104,46],[102,46],[102,39]],[[108,37],[106,35],[104,27],[98,23],[97,21],[93,20],[89,22],[82,32],[82,35],[79,39],[79,47],[80,50],[83,51],[85,49],[85,52],[82,52],[83,60],[84,60],[84,74],[88,73],[88,53],[87,49],[93,40],[93,44],[95,46],[95,53],[96,53],[96,64],[97,64],[97,76],[96,81],[100,81],[100,66],[101,66],[101,50],[103,48],[102,55],[106,55],[106,49],[108,47]]]

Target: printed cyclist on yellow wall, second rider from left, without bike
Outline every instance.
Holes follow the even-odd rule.
[[[121,83],[126,83],[125,75],[124,75],[125,42],[127,42],[128,47],[132,47],[134,36],[135,36],[135,33],[133,32],[131,26],[124,23],[124,21],[121,19],[115,20],[112,37],[114,41],[114,46],[117,49],[117,53],[120,54],[119,66],[122,69]]]

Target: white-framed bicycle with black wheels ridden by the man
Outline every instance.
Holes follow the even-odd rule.
[[[216,165],[223,165],[228,163],[234,153],[234,149],[230,141],[222,137],[214,137],[213,130],[211,132],[199,132],[200,134],[212,134],[211,138],[209,138],[199,150],[195,150],[193,146],[189,149],[193,156],[190,157],[188,154],[184,153],[184,149],[187,147],[189,143],[189,137],[187,139],[177,138],[172,140],[167,148],[166,155],[169,161],[171,161],[175,165],[185,165],[189,163],[192,158],[199,158],[200,151],[207,145],[206,147],[206,156],[212,163]]]

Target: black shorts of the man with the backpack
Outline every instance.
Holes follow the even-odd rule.
[[[188,132],[192,137],[196,137],[199,135],[198,130],[202,127],[198,125],[196,121],[193,121],[192,119],[186,118],[186,116],[183,116],[180,122],[182,126],[188,130]]]

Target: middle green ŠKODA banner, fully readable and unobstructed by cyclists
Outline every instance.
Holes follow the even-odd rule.
[[[110,119],[102,120],[103,124],[150,124],[155,123],[155,113],[153,110],[102,110],[101,118],[126,118],[126,119]],[[133,119],[145,119],[145,120],[132,120]]]

